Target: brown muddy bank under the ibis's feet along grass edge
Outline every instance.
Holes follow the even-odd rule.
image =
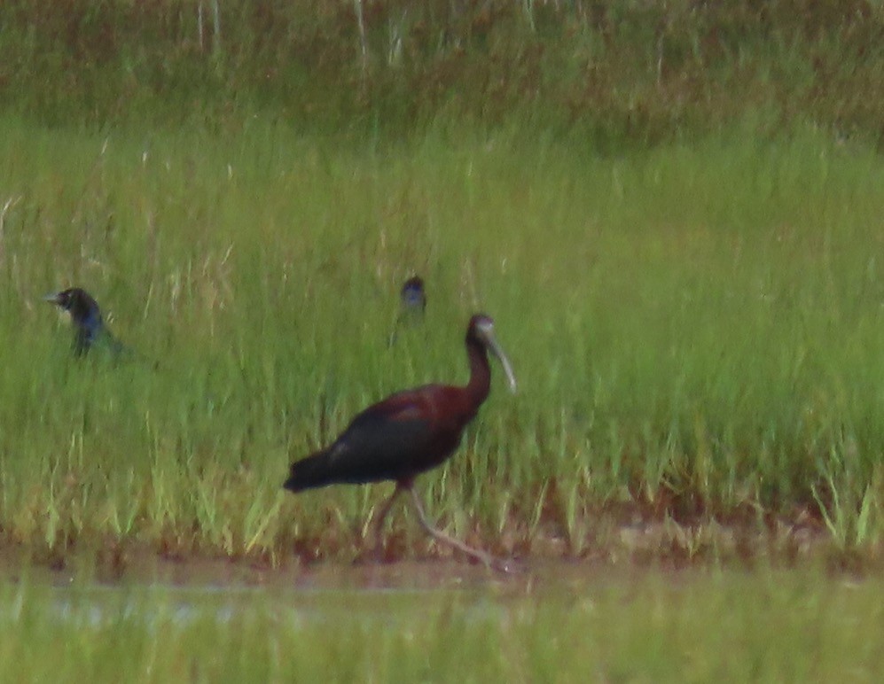
[[[487,548],[487,547],[486,547]],[[724,565],[751,569],[756,565],[792,567],[818,564],[829,571],[884,571],[880,545],[842,548],[825,526],[808,521],[778,521],[775,525],[725,525],[716,521],[678,524],[637,522],[598,527],[578,552],[548,534],[530,545],[494,548],[512,558],[510,574],[489,570],[452,555],[428,540],[411,544],[392,538],[379,558],[354,550],[351,554],[321,555],[321,547],[303,542],[288,553],[228,557],[211,550],[168,548],[140,541],[69,543],[64,547],[32,548],[0,545],[0,578],[27,577],[56,585],[78,580],[107,583],[160,583],[168,586],[218,587],[465,587],[507,582],[529,584],[568,577],[586,581],[629,571],[682,571]]]

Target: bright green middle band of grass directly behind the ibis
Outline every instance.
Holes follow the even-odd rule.
[[[859,145],[751,123],[606,159],[522,129],[2,129],[7,542],[346,557],[387,488],[284,495],[287,462],[389,392],[465,381],[485,310],[520,393],[495,369],[463,447],[420,479],[450,532],[577,553],[610,505],[797,507],[877,547],[884,165]],[[411,271],[426,326],[388,350]],[[149,361],[74,362],[39,300],[70,284]]]

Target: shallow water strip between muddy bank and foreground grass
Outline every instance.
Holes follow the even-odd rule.
[[[180,572],[158,572],[150,580],[133,572],[117,581],[102,581],[31,569],[6,578],[8,585],[22,590],[0,605],[0,622],[19,620],[27,595],[35,589],[43,595],[43,610],[83,626],[131,619],[147,624],[187,625],[206,619],[225,623],[255,610],[293,626],[354,617],[389,626],[408,612],[396,609],[422,602],[456,602],[467,620],[505,619],[511,606],[526,596],[568,602],[630,581],[630,572],[568,563],[536,564],[513,574],[455,562],[317,564],[252,569],[233,579],[230,571],[230,564],[208,563],[191,567],[186,579]]]

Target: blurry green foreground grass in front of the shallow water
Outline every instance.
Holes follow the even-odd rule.
[[[879,580],[812,571],[575,586],[200,595],[0,586],[12,681],[874,681]]]

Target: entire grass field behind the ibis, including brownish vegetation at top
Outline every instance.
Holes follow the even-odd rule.
[[[878,556],[877,4],[211,6],[0,10],[5,544],[352,556],[386,488],[284,496],[286,464],[464,381],[484,310],[520,393],[421,479],[450,531]],[[74,284],[137,361],[72,361],[39,299]]]

